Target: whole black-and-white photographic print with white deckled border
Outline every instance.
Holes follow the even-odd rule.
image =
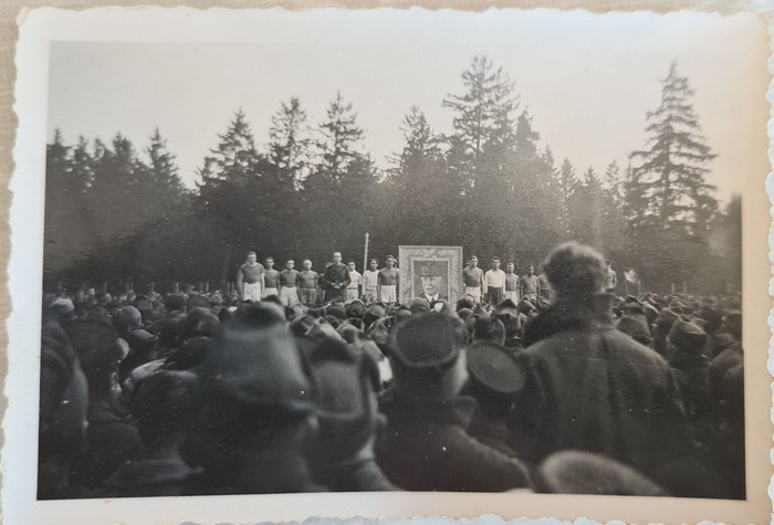
[[[14,175],[34,500],[751,498],[759,17],[118,11]]]

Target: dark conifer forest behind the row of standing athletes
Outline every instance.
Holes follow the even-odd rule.
[[[224,283],[253,249],[317,269],[338,250],[359,266],[369,232],[380,259],[400,244],[461,245],[519,271],[577,240],[635,269],[647,290],[741,288],[741,199],[721,210],[707,182],[714,154],[676,63],[647,115],[647,144],[626,167],[603,170],[556,159],[509,74],[485,56],[461,81],[440,101],[452,132],[436,133],[411,107],[387,169],[363,151],[341,92],[316,125],[297,97],[282,103],[266,145],[237,111],[195,189],[158,129],[139,153],[121,134],[67,145],[57,132],[46,148],[44,284]]]

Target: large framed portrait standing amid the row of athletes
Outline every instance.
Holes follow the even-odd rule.
[[[462,291],[461,246],[399,246],[400,301],[423,294],[457,301]]]

